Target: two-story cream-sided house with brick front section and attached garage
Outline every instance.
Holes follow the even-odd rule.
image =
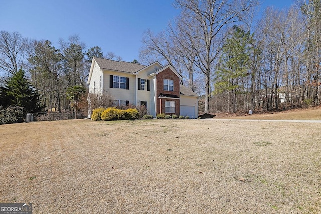
[[[197,118],[198,95],[180,85],[180,79],[171,65],[144,66],[93,57],[87,84],[89,93],[109,93],[115,106],[144,105],[154,117],[165,113]]]

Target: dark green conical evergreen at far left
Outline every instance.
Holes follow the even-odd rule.
[[[5,97],[8,99],[7,106],[20,106],[26,112],[39,112],[42,107],[39,104],[39,94],[30,84],[22,68],[5,81]]]

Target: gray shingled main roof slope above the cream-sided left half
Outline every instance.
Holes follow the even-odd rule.
[[[139,64],[123,62],[123,61],[119,62],[114,60],[107,60],[107,59],[98,58],[98,57],[94,57],[94,59],[101,69],[112,70],[112,71],[135,73],[146,67],[145,65],[139,65]]]

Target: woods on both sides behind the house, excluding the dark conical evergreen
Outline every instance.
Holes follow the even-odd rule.
[[[174,7],[180,15],[167,29],[144,32],[140,62],[171,64],[183,76],[181,83],[201,95],[201,111],[319,104],[321,0],[268,7],[260,18],[257,0],[175,0]],[[98,46],[86,49],[77,35],[59,40],[56,48],[48,40],[1,31],[0,84],[6,88],[22,69],[43,111],[69,109],[67,89],[86,87],[93,56],[121,60],[112,52],[103,55]]]

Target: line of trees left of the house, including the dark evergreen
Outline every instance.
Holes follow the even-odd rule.
[[[113,52],[103,55],[98,46],[86,49],[78,35],[67,41],[60,39],[58,49],[49,40],[0,31],[0,69],[4,74],[0,106],[21,106],[27,112],[77,111],[80,99],[86,103],[86,96],[81,94],[85,93],[94,56],[122,60]],[[33,107],[28,108],[27,103],[33,103]]]

